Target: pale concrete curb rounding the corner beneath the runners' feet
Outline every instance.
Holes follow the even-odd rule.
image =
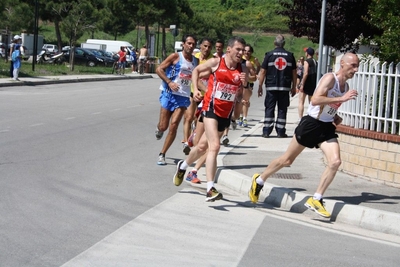
[[[236,139],[231,146],[221,148],[217,157],[217,166],[223,166],[224,157],[260,127],[262,127],[261,123],[256,124],[246,134]],[[215,181],[246,196],[251,186],[251,177],[229,170],[224,166],[218,167]],[[310,195],[266,182],[260,193],[259,203],[270,204],[289,212],[304,213],[308,210],[304,203],[309,197]],[[400,236],[400,214],[398,213],[347,204],[331,199],[324,199],[324,201],[327,210],[332,211],[332,216],[329,219],[331,222],[340,222],[367,230]],[[250,200],[249,203],[251,203]],[[257,204],[252,205],[257,206]]]

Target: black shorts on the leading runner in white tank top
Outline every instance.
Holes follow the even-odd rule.
[[[311,116],[301,118],[294,130],[297,142],[305,147],[319,148],[319,144],[332,138],[338,138],[336,126],[332,122],[323,122]]]

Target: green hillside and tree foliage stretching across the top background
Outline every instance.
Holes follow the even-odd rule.
[[[321,0],[2,0],[2,28],[33,33],[36,2],[40,20],[53,23],[59,46],[75,45],[87,33],[117,39],[142,26],[145,38],[160,31],[163,55],[169,25],[177,25],[181,35],[226,40],[233,31],[279,32],[316,43],[322,5]],[[381,59],[398,62],[399,17],[400,0],[327,0],[324,44],[348,51],[357,49],[356,39],[374,42]]]

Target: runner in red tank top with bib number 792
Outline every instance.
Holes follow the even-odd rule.
[[[193,99],[201,101],[203,96],[198,88],[199,80],[210,75],[207,93],[204,96],[203,123],[204,134],[199,143],[191,151],[185,161],[177,164],[173,182],[179,186],[189,165],[207,152],[206,201],[222,198],[222,194],[214,188],[214,178],[217,170],[217,155],[220,149],[220,138],[226,127],[229,127],[235,98],[240,97],[243,86],[247,85],[248,73],[246,67],[242,70],[241,61],[245,41],[241,37],[232,37],[228,41],[225,57],[212,58],[197,66],[192,72]],[[242,100],[246,104],[247,100]]]

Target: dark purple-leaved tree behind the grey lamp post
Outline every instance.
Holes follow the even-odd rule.
[[[357,50],[354,41],[380,31],[369,24],[368,6],[372,0],[327,0],[324,45],[341,51]],[[279,12],[289,17],[289,29],[296,37],[307,36],[319,42],[321,0],[279,0],[284,8]]]

